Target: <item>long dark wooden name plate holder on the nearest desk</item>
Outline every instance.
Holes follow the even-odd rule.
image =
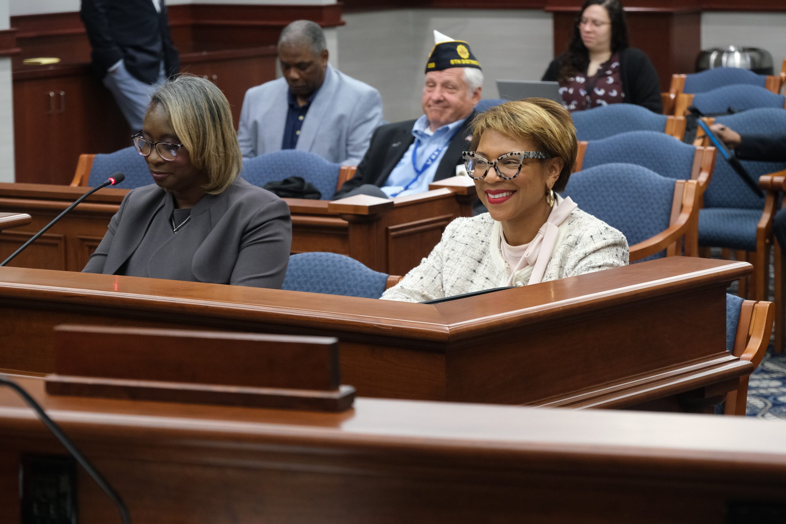
[[[52,395],[342,412],[338,339],[60,325]]]

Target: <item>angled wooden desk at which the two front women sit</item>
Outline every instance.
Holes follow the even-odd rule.
[[[0,368],[53,372],[57,324],[230,329],[336,336],[367,397],[701,410],[753,370],[725,351],[725,288],[750,271],[670,257],[426,305],[6,267]]]

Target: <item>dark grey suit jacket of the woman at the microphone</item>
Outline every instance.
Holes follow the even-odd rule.
[[[118,270],[136,251],[152,220],[170,220],[171,202],[155,184],[131,190],[83,272],[123,274]],[[189,223],[150,254],[148,276],[281,288],[291,244],[287,203],[238,177],[226,191],[205,195],[196,203]]]

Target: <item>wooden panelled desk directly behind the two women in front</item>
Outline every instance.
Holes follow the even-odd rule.
[[[33,217],[28,227],[0,234],[0,256],[13,253],[87,190],[0,183],[0,211]],[[96,192],[36,240],[13,266],[80,271],[127,192],[112,188]],[[349,255],[376,271],[404,275],[432,251],[451,220],[472,216],[476,195],[474,185],[454,181],[441,189],[394,199],[392,207],[379,211],[373,201],[384,200],[360,198],[372,203],[285,199],[292,213],[292,252],[331,251]]]

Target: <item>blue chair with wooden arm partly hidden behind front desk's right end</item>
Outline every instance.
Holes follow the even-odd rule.
[[[774,318],[772,302],[754,302],[726,294],[726,350],[740,360],[750,361],[754,369],[758,368],[769,345]],[[729,392],[725,405],[718,406],[715,412],[744,415],[747,382],[748,376],[740,377],[737,390]]]

